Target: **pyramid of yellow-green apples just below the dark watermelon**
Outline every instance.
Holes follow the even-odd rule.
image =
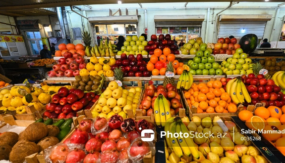
[[[222,70],[226,75],[248,75],[253,73],[253,64],[247,54],[241,48],[237,48],[232,57],[221,63]],[[258,71],[259,74],[259,71]]]

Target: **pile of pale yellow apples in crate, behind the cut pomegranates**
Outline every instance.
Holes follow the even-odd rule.
[[[91,111],[93,118],[109,118],[115,114],[127,118],[127,110],[132,110],[135,115],[139,98],[140,87],[133,87],[129,90],[122,89],[117,82],[110,82],[106,90],[101,94],[97,104]]]

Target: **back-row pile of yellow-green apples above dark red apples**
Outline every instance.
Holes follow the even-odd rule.
[[[143,36],[140,36],[139,38],[137,36],[127,36],[125,40],[124,45],[121,47],[121,50],[117,52],[117,55],[121,55],[123,53],[126,55],[148,55],[148,51],[151,49],[149,42],[146,41]]]

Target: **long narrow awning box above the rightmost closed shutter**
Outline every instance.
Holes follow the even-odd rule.
[[[270,21],[270,14],[251,14],[251,15],[220,15],[220,21]]]

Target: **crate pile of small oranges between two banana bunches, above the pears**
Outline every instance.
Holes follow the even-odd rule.
[[[191,88],[184,90],[184,96],[189,106],[195,106],[197,113],[235,113],[236,104],[222,88],[222,82],[210,81],[207,84],[193,83]],[[190,107],[191,108],[191,107]]]

